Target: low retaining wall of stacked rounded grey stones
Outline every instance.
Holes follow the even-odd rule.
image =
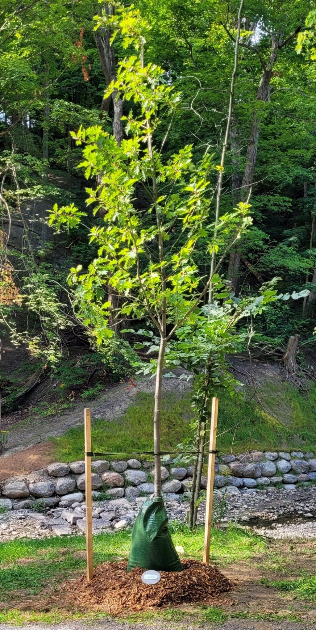
[[[308,484],[316,480],[316,457],[312,452],[261,452],[221,455],[216,458],[214,487],[227,492],[240,488],[255,490],[282,484],[286,490],[296,483]],[[125,497],[129,501],[154,492],[153,462],[128,461],[93,462],[93,497],[100,497],[106,488],[109,500]],[[183,494],[188,498],[193,467],[172,466],[172,460],[161,467],[162,493],[166,500]],[[43,500],[47,507],[67,507],[84,500],[84,461],[51,464],[41,471],[16,476],[0,483],[0,508],[31,508],[35,500]],[[206,488],[206,477],[201,479]]]

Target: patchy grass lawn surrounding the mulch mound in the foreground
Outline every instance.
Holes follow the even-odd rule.
[[[184,547],[186,558],[203,557],[203,528],[190,532],[185,526],[174,524],[171,527],[174,544]],[[130,549],[130,532],[115,534],[99,534],[94,536],[94,566],[105,561],[118,561],[128,558]],[[50,597],[60,582],[74,578],[86,570],[85,538],[83,536],[63,536],[43,540],[16,539],[13,542],[0,544],[0,623],[23,625],[28,622],[55,624],[57,622],[84,619],[93,621],[108,617],[105,612],[79,612],[65,610],[58,598],[49,605]],[[304,543],[303,543],[304,544]],[[274,582],[266,580],[266,606],[258,609],[256,605],[242,600],[242,592],[237,592],[237,606],[234,603],[217,605],[195,605],[175,609],[152,610],[137,614],[127,614],[121,621],[150,622],[156,620],[172,622],[178,629],[188,624],[202,622],[221,623],[227,619],[252,619],[300,621],[308,607],[315,601],[315,577],[309,575],[316,554],[316,543],[308,541],[308,547],[289,545],[286,541],[272,544],[246,530],[230,527],[213,529],[211,538],[211,563],[222,570],[229,570],[232,579],[238,579],[244,571],[247,575],[245,591],[254,588],[256,603],[257,585],[264,582],[258,575],[258,568],[266,571],[270,577],[282,576],[282,580]],[[313,556],[313,557],[312,557]],[[305,566],[302,561],[306,560]],[[299,570],[295,562],[299,563]],[[308,563],[310,564],[307,564]],[[295,579],[293,578],[293,571]],[[309,572],[309,573],[308,573]],[[286,579],[288,576],[288,579]],[[284,600],[278,592],[271,592],[271,587],[281,592],[291,590],[291,595],[305,600],[292,605]],[[262,588],[266,588],[263,587]],[[269,612],[271,598],[279,598],[279,608]],[[240,599],[241,595],[241,599]],[[231,597],[231,596],[230,596]],[[48,599],[45,599],[48,598]],[[234,599],[234,593],[232,593]],[[307,600],[307,601],[306,601]],[[47,603],[48,602],[48,603]],[[316,611],[315,611],[316,615]],[[316,617],[315,617],[316,618]],[[183,625],[181,625],[183,622]]]

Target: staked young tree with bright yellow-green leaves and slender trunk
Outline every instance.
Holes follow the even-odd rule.
[[[99,127],[79,129],[77,142],[84,143],[86,176],[98,176],[96,190],[87,189],[88,205],[94,214],[103,210],[103,224],[91,229],[91,241],[99,246],[96,258],[82,273],[79,266],[71,270],[71,281],[77,283],[77,306],[84,323],[102,343],[111,335],[108,328],[109,302],[106,283],[125,297],[121,316],[147,319],[158,333],[159,343],[150,350],[158,352],[155,362],[154,452],[155,496],[161,495],[161,397],[162,372],[168,344],[176,330],[190,318],[213,285],[223,256],[249,225],[249,206],[240,203],[234,211],[220,217],[216,241],[208,226],[210,172],[212,159],[205,152],[198,164],[193,163],[192,147],[184,146],[171,159],[163,159],[166,136],[160,147],[154,137],[162,119],[179,108],[180,95],[166,83],[164,71],[145,64],[145,36],[149,26],[138,11],[118,8],[115,15],[104,14],[100,24],[120,31],[125,48],[135,54],[119,64],[117,79],[104,98],[113,91],[125,101],[133,101],[126,120],[128,138],[115,140]],[[135,186],[142,186],[147,208],[138,211],[133,203]],[[50,224],[57,230],[63,224],[76,227],[81,213],[70,207],[54,207]],[[209,236],[208,252],[219,251],[212,277],[205,281],[194,261],[196,244]],[[205,252],[206,255],[207,252]]]

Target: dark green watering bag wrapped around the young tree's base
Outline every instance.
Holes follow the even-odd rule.
[[[162,498],[144,501],[133,525],[127,573],[136,566],[154,571],[183,570],[167,525]]]

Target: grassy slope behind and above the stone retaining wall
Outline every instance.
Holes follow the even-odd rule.
[[[264,409],[251,399],[245,388],[244,400],[220,397],[218,413],[218,449],[223,452],[260,450],[315,450],[316,386],[310,385],[304,396],[289,383],[268,383],[259,389]],[[154,395],[137,394],[135,404],[116,421],[94,420],[93,450],[99,452],[141,452],[152,450]],[[191,394],[178,399],[164,394],[162,403],[162,449],[176,449],[179,442],[193,435]],[[277,419],[276,419],[277,418]],[[62,437],[53,438],[55,460],[74,461],[83,457],[83,427],[71,428]]]

